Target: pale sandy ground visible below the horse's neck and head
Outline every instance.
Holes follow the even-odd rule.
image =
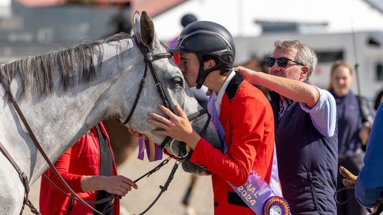
[[[126,160],[122,165],[118,166],[117,171],[119,175],[135,180],[141,175],[149,172],[161,162],[149,162],[146,157],[146,160],[141,161],[137,159],[136,156],[137,154],[133,154],[133,156]],[[166,157],[166,155],[163,156],[164,159]],[[164,185],[166,182],[166,179],[173,168],[174,162],[175,160],[172,159],[149,178],[143,178],[138,181],[138,189],[133,189],[132,192],[129,192],[128,195],[123,197],[121,200],[122,206],[125,207],[122,208],[121,215],[139,214],[145,210],[157,197],[160,192],[159,185]],[[182,200],[186,193],[189,181],[190,174],[184,172],[180,165],[167,191],[162,194],[157,203],[145,214],[186,214],[185,206],[182,204]],[[32,185],[30,193],[30,200],[36,208],[38,208],[39,205],[39,190],[40,180]],[[198,177],[189,202],[195,209],[196,214],[213,214],[211,177]],[[22,214],[33,215],[28,207],[24,209]]]

